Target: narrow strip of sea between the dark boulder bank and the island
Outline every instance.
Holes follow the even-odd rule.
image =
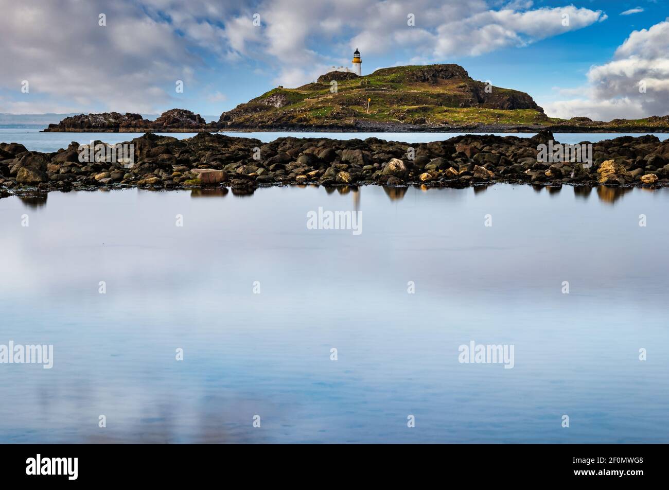
[[[143,133],[39,133],[39,129],[26,128],[0,128],[0,143],[21,143],[33,151],[57,151],[66,148],[72,141],[83,145],[92,140],[100,140],[105,143],[121,143],[140,137]],[[190,138],[197,133],[156,133],[158,135],[172,136],[179,139]],[[331,138],[331,139],[365,139],[379,138],[387,141],[404,141],[406,143],[429,143],[429,141],[441,141],[450,139],[464,133],[223,133],[228,136],[239,136],[244,138],[257,138],[264,143],[274,141],[281,137],[295,138]],[[494,133],[498,136],[517,136],[530,138],[532,133]],[[669,139],[669,133],[651,133],[660,140]],[[596,142],[603,139],[612,139],[620,136],[642,136],[636,134],[622,133],[555,133],[555,139],[561,143],[575,145],[581,141]]]

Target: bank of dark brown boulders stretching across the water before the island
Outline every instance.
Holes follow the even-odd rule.
[[[0,197],[31,189],[101,187],[230,187],[245,194],[257,187],[294,184],[669,186],[669,141],[646,135],[593,143],[591,165],[539,161],[540,145],[552,145],[553,139],[552,133],[541,131],[532,138],[466,135],[413,145],[377,138],[282,137],[262,143],[216,133],[183,140],[147,133],[120,144],[132,145],[132,162],[127,155],[118,156],[120,151],[109,161],[81,161],[82,149],[88,147],[76,142],[54,153],[0,143]]]

